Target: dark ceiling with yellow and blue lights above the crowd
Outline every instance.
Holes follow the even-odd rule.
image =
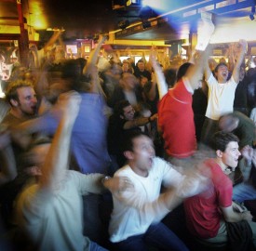
[[[172,40],[181,39],[184,33],[197,30],[200,11],[209,10],[217,17],[220,26],[249,23],[251,7],[255,0],[148,0],[152,6],[148,17],[141,7],[116,7],[115,0],[21,0],[23,15],[28,24],[39,33],[50,35],[47,28],[63,28],[64,38],[85,38],[95,33],[108,33],[118,29],[119,20],[131,24],[141,19],[166,20],[148,29],[137,25],[128,27],[126,32],[117,31],[117,39]],[[123,1],[127,2],[127,1]],[[193,15],[191,13],[195,11]],[[189,14],[190,13],[190,14]],[[16,0],[0,0],[0,24],[17,22]],[[255,17],[256,18],[256,17]],[[255,20],[253,20],[256,26]],[[247,26],[249,27],[249,26]],[[236,32],[235,32],[236,33]],[[256,36],[256,35],[255,35]],[[255,37],[256,40],[256,37]]]

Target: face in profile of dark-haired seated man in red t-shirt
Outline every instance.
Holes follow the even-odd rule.
[[[228,143],[224,152],[222,152],[222,163],[226,166],[236,168],[238,165],[238,158],[241,153],[238,151],[238,143],[231,141]]]

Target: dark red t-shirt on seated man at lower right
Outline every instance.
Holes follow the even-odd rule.
[[[215,237],[220,229],[221,208],[232,205],[233,185],[214,159],[205,162],[204,172],[210,175],[208,191],[184,201],[187,228],[191,234],[209,239]]]

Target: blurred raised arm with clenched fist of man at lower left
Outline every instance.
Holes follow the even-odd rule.
[[[80,102],[81,97],[76,92],[68,92],[60,96],[62,117],[40,177],[40,186],[50,192],[60,188],[60,182],[68,169],[71,134]]]

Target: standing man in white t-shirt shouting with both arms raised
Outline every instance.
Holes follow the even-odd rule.
[[[221,62],[216,66],[215,77],[209,69],[209,64],[205,64],[205,76],[209,86],[208,107],[201,135],[201,140],[205,144],[210,143],[210,137],[217,131],[219,118],[225,113],[233,112],[239,70],[247,50],[247,42],[240,40],[236,49],[238,51],[236,64],[229,80],[228,67],[225,63]]]

